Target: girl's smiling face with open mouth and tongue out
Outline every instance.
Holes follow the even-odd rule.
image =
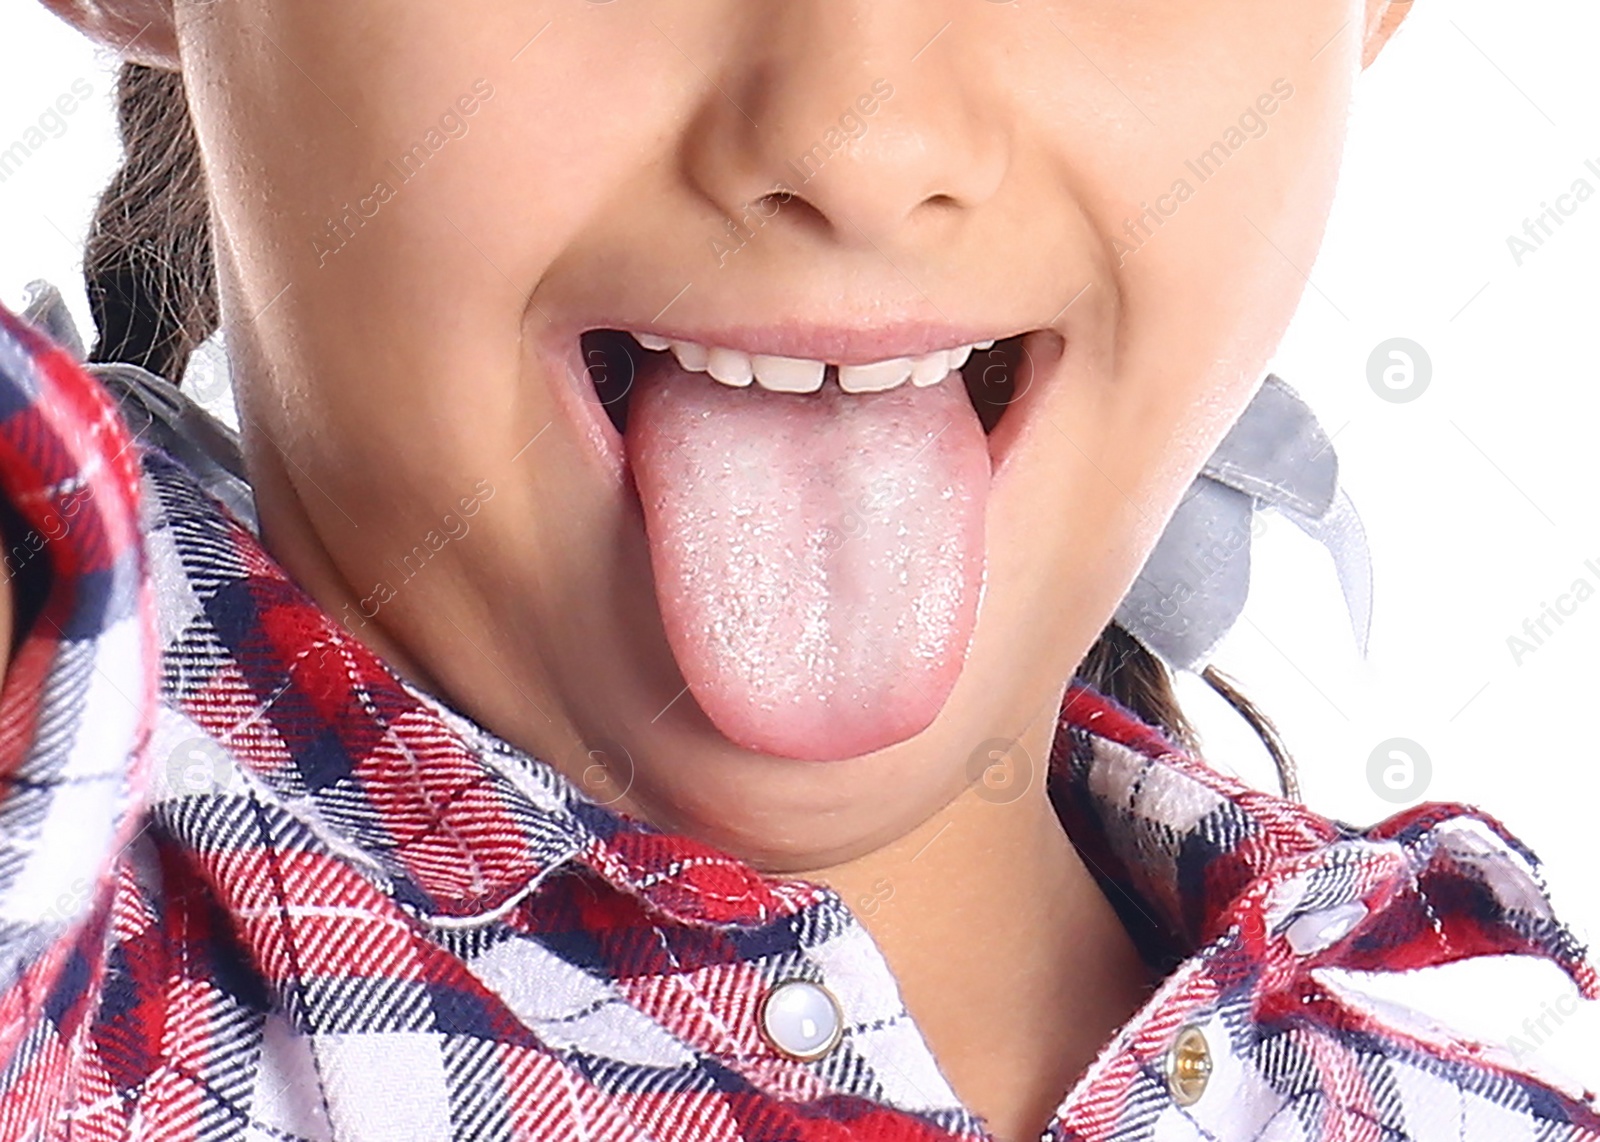
[[[1382,16],[178,0],[269,544],[600,800],[773,868],[1013,741],[1037,790],[1294,310]],[[762,382],[997,344],[795,395],[595,331]]]

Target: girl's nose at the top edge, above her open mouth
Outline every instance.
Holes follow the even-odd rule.
[[[1006,168],[1003,117],[960,67],[958,8],[760,5],[762,26],[688,139],[688,178],[734,219],[778,194],[786,224],[843,246],[902,245],[957,224]]]

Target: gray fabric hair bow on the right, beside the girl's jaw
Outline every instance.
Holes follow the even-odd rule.
[[[1166,665],[1203,670],[1245,609],[1250,541],[1264,507],[1328,549],[1365,656],[1373,613],[1366,533],[1339,486],[1333,441],[1277,376],[1205,462],[1118,605],[1117,624]]]

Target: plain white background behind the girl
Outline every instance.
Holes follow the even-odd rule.
[[[1544,859],[1586,942],[1600,939],[1600,597],[1520,664],[1507,638],[1576,579],[1600,589],[1600,195],[1520,267],[1506,240],[1576,179],[1600,190],[1584,166],[1600,168],[1597,46],[1590,0],[1418,0],[1363,77],[1328,242],[1301,267],[1312,288],[1274,371],[1334,433],[1365,518],[1370,654],[1354,651],[1328,557],[1270,520],[1245,619],[1216,657],[1278,721],[1314,808],[1352,824],[1398,809],[1370,784],[1368,758],[1411,739],[1432,776],[1410,801],[1494,813]],[[45,277],[88,328],[82,240],[117,157],[110,59],[11,0],[0,149],[77,77],[96,98],[0,184],[0,301],[19,307],[22,286]],[[1368,385],[1368,357],[1390,337],[1432,360],[1410,403]],[[1202,686],[1184,693],[1213,763],[1270,787],[1237,720]],[[1600,1086],[1600,1004],[1568,1014],[1574,992],[1554,968],[1488,960],[1424,976],[1387,992]]]

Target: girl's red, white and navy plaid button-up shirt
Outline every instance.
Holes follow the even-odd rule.
[[[3,309],[0,486],[0,1139],[989,1137],[837,892],[397,678]],[[1082,686],[1048,782],[1165,972],[1048,1142],[1600,1139],[1592,1094],[1350,982],[1526,953],[1595,996],[1493,817],[1354,829]],[[843,1014],[821,1059],[758,1028],[795,979]]]

